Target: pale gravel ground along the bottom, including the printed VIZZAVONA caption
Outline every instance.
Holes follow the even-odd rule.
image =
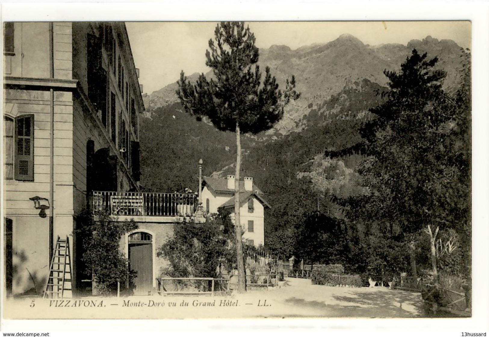
[[[339,318],[421,316],[420,293],[388,288],[312,285],[288,278],[285,285],[230,296],[178,295],[86,297],[43,300],[9,298],[6,318]]]

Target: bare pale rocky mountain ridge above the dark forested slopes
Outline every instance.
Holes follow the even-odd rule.
[[[412,49],[427,52],[429,58],[438,57],[440,61],[437,67],[447,72],[445,87],[454,86],[457,79],[456,68],[460,65],[457,55],[460,48],[452,40],[438,40],[431,36],[422,40],[411,40],[407,45],[370,46],[351,34],[341,34],[326,44],[301,46],[296,49],[291,49],[287,45],[260,48],[258,65],[262,69],[265,66],[270,67],[271,73],[282,88],[286,79],[295,75],[297,90],[302,95],[299,100],[286,107],[284,118],[272,130],[256,139],[292,132],[298,123],[300,124],[303,116],[309,113],[311,107],[318,107],[324,100],[339,93],[347,83],[366,78],[381,86],[387,85],[383,71],[399,70],[400,64],[410,55]],[[193,73],[187,79],[195,82],[199,75]],[[212,77],[212,72],[208,71],[205,75]],[[151,116],[158,107],[177,103],[177,89],[175,81],[149,95],[144,95],[146,115]]]

